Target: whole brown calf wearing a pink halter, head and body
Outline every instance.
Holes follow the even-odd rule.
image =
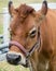
[[[30,71],[56,71],[56,10],[22,4],[14,9],[9,3],[12,16],[10,24],[10,51],[6,59],[12,64],[29,67]]]

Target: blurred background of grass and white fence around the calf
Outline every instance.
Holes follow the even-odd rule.
[[[10,0],[0,0],[0,71],[29,71],[22,66],[10,66],[5,62],[5,54],[9,51],[9,24],[10,14],[8,12],[8,3]],[[37,4],[42,3],[43,0],[12,0],[14,7],[18,7],[22,3],[32,4],[34,8]],[[51,8],[56,9],[56,0],[47,0]],[[51,4],[52,3],[52,4]],[[38,7],[39,8],[39,7]],[[37,8],[37,9],[38,9]]]

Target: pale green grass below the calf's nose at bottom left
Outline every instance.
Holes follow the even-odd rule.
[[[12,66],[5,61],[0,62],[0,71],[29,71],[28,68],[24,68],[22,66]]]

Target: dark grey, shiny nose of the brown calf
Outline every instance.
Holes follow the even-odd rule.
[[[11,64],[18,64],[22,60],[22,56],[16,54],[6,54],[6,60]]]

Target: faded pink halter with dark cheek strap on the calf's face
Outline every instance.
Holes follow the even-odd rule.
[[[43,19],[44,19],[44,15],[42,15],[42,16],[40,17],[40,22],[41,22]],[[15,40],[10,42],[9,47],[11,47],[11,46],[16,46],[16,47],[18,47],[18,48],[25,54],[25,56],[26,56],[27,58],[28,58],[29,56],[31,56],[32,52],[33,52],[36,49],[38,49],[38,51],[39,51],[39,49],[40,49],[40,47],[41,47],[40,26],[38,27],[38,42],[31,47],[31,49],[30,49],[29,51],[27,51],[23,45],[20,45],[19,43],[15,42]]]

